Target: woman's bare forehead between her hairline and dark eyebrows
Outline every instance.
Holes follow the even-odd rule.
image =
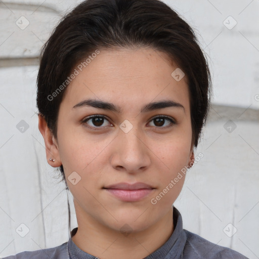
[[[87,65],[79,62],[74,69],[77,75],[63,98],[70,108],[90,97],[121,107],[166,98],[185,106],[189,103],[187,77],[176,80],[172,73],[179,69],[177,65],[153,49],[100,50],[88,59]]]

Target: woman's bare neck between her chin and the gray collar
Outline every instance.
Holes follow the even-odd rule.
[[[174,231],[172,208],[155,224],[144,231],[125,233],[108,228],[97,222],[89,214],[78,217],[78,229],[73,242],[83,251],[101,259],[144,258],[161,247]]]

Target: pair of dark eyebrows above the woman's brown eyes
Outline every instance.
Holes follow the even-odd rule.
[[[112,103],[108,103],[108,102],[104,102],[104,101],[100,101],[100,100],[96,100],[96,99],[83,100],[83,101],[79,102],[78,104],[76,104],[75,106],[73,106],[73,109],[79,108],[79,107],[85,107],[85,106],[92,106],[97,109],[110,110],[110,111],[114,111],[117,113],[121,112],[121,107],[114,105]],[[185,112],[185,108],[182,104],[177,103],[172,100],[162,100],[159,102],[153,102],[153,103],[146,104],[145,106],[142,107],[141,113],[158,110],[158,109],[163,109],[163,108],[167,108],[167,107],[182,108]]]

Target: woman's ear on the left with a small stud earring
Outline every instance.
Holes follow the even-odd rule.
[[[46,149],[46,157],[48,163],[53,167],[58,167],[62,165],[60,156],[59,156],[59,148],[58,144],[55,142],[55,138],[51,133],[49,127],[47,126],[47,122],[40,113],[38,114],[38,129],[44,138],[45,149]],[[55,161],[49,160],[50,158],[55,159]]]

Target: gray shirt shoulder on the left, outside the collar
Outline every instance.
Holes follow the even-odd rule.
[[[62,245],[52,248],[40,249],[36,251],[24,251],[15,255],[4,257],[3,259],[69,259],[67,244],[68,242],[65,242]]]

